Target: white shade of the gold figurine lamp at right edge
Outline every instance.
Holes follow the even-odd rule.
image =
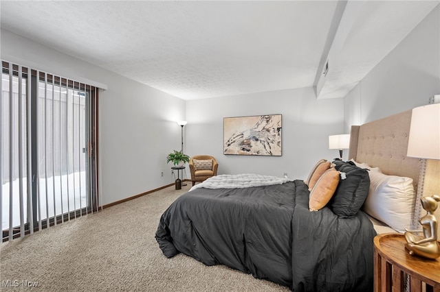
[[[409,157],[440,159],[440,104],[412,109]]]

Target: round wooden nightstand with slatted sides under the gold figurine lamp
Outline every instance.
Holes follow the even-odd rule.
[[[406,275],[410,291],[440,292],[440,258],[429,260],[411,256],[403,234],[380,234],[374,239],[374,291],[404,291]]]

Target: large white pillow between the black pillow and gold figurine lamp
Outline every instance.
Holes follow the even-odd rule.
[[[370,189],[364,203],[364,212],[397,232],[410,229],[415,208],[415,190],[412,178],[385,175],[369,171]]]

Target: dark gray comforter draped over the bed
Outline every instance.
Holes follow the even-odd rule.
[[[206,265],[227,265],[293,291],[372,291],[371,221],[310,212],[302,180],[251,188],[197,188],[162,215],[156,240]]]

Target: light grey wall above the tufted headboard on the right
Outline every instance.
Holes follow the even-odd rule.
[[[440,94],[440,5],[345,97],[345,128],[428,104]]]

